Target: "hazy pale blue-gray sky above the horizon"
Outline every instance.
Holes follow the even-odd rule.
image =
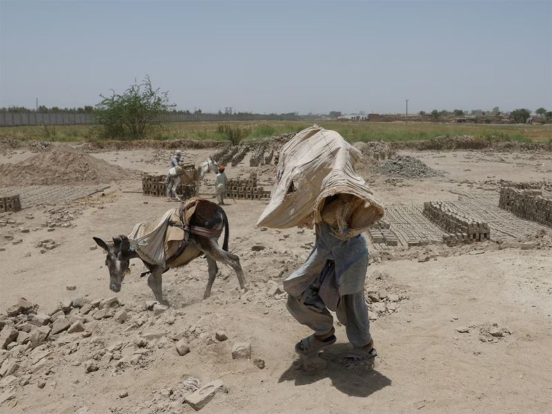
[[[0,106],[552,110],[552,1],[0,0]]]

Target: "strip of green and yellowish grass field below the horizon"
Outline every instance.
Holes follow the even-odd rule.
[[[284,132],[301,130],[311,123],[304,121],[233,121],[233,128],[246,128],[246,141],[262,139]],[[411,122],[351,122],[319,121],[319,126],[339,132],[348,141],[422,141],[443,135],[471,135],[482,139],[552,143],[552,124],[549,125],[483,125],[433,124]],[[217,132],[219,122],[175,122],[163,124],[148,139],[226,140]],[[19,126],[0,128],[0,139],[83,142],[99,140],[98,126]]]

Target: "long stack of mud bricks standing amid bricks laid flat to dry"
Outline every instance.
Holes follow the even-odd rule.
[[[424,215],[448,233],[443,242],[449,246],[491,239],[489,224],[460,215],[440,201],[425,202]]]

